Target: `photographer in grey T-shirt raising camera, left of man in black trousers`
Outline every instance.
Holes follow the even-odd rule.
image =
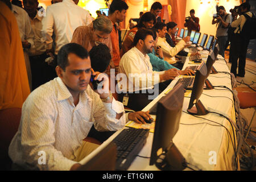
[[[232,17],[226,13],[225,7],[218,7],[217,14],[213,14],[212,24],[217,23],[216,38],[220,46],[219,54],[225,58],[225,46],[228,41],[228,28],[232,23]]]

